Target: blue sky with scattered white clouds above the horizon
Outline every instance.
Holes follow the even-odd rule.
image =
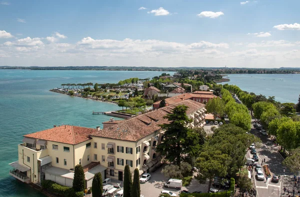
[[[300,0],[0,0],[0,65],[300,67]]]

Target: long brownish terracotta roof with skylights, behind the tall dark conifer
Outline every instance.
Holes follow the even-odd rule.
[[[168,120],[163,118],[163,116],[167,113],[171,113],[172,109],[180,104],[184,104],[188,107],[186,111],[187,114],[205,106],[204,104],[193,100],[181,100],[173,105],[161,107],[157,110],[150,111],[121,121],[110,127],[103,128],[102,130],[91,133],[90,136],[138,141],[156,130],[159,130],[159,124],[167,123]]]

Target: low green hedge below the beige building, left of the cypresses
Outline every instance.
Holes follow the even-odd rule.
[[[43,189],[49,190],[51,193],[61,197],[83,197],[84,192],[75,192],[72,187],[62,186],[52,180],[42,180],[41,186]]]

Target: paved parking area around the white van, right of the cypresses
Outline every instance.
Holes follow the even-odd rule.
[[[168,180],[162,173],[161,169],[164,167],[162,165],[156,171],[150,172],[151,179],[149,179],[145,183],[140,183],[140,194],[143,194],[144,197],[157,197],[162,190],[169,190],[176,194],[179,194],[179,190],[174,188],[165,188],[163,183]],[[188,190],[189,192],[193,191],[202,191],[207,192],[208,189],[208,182],[207,184],[200,184],[196,179],[192,179],[189,183],[189,186],[184,187],[182,186],[181,190]]]

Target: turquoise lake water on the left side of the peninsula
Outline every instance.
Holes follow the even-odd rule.
[[[62,83],[111,82],[147,78],[158,71],[3,70],[0,69],[0,196],[44,196],[8,175],[8,163],[17,160],[22,135],[58,124],[101,126],[110,116],[94,111],[120,109],[116,104],[49,91]],[[168,72],[173,74],[173,72]],[[117,119],[117,118],[116,118]]]

